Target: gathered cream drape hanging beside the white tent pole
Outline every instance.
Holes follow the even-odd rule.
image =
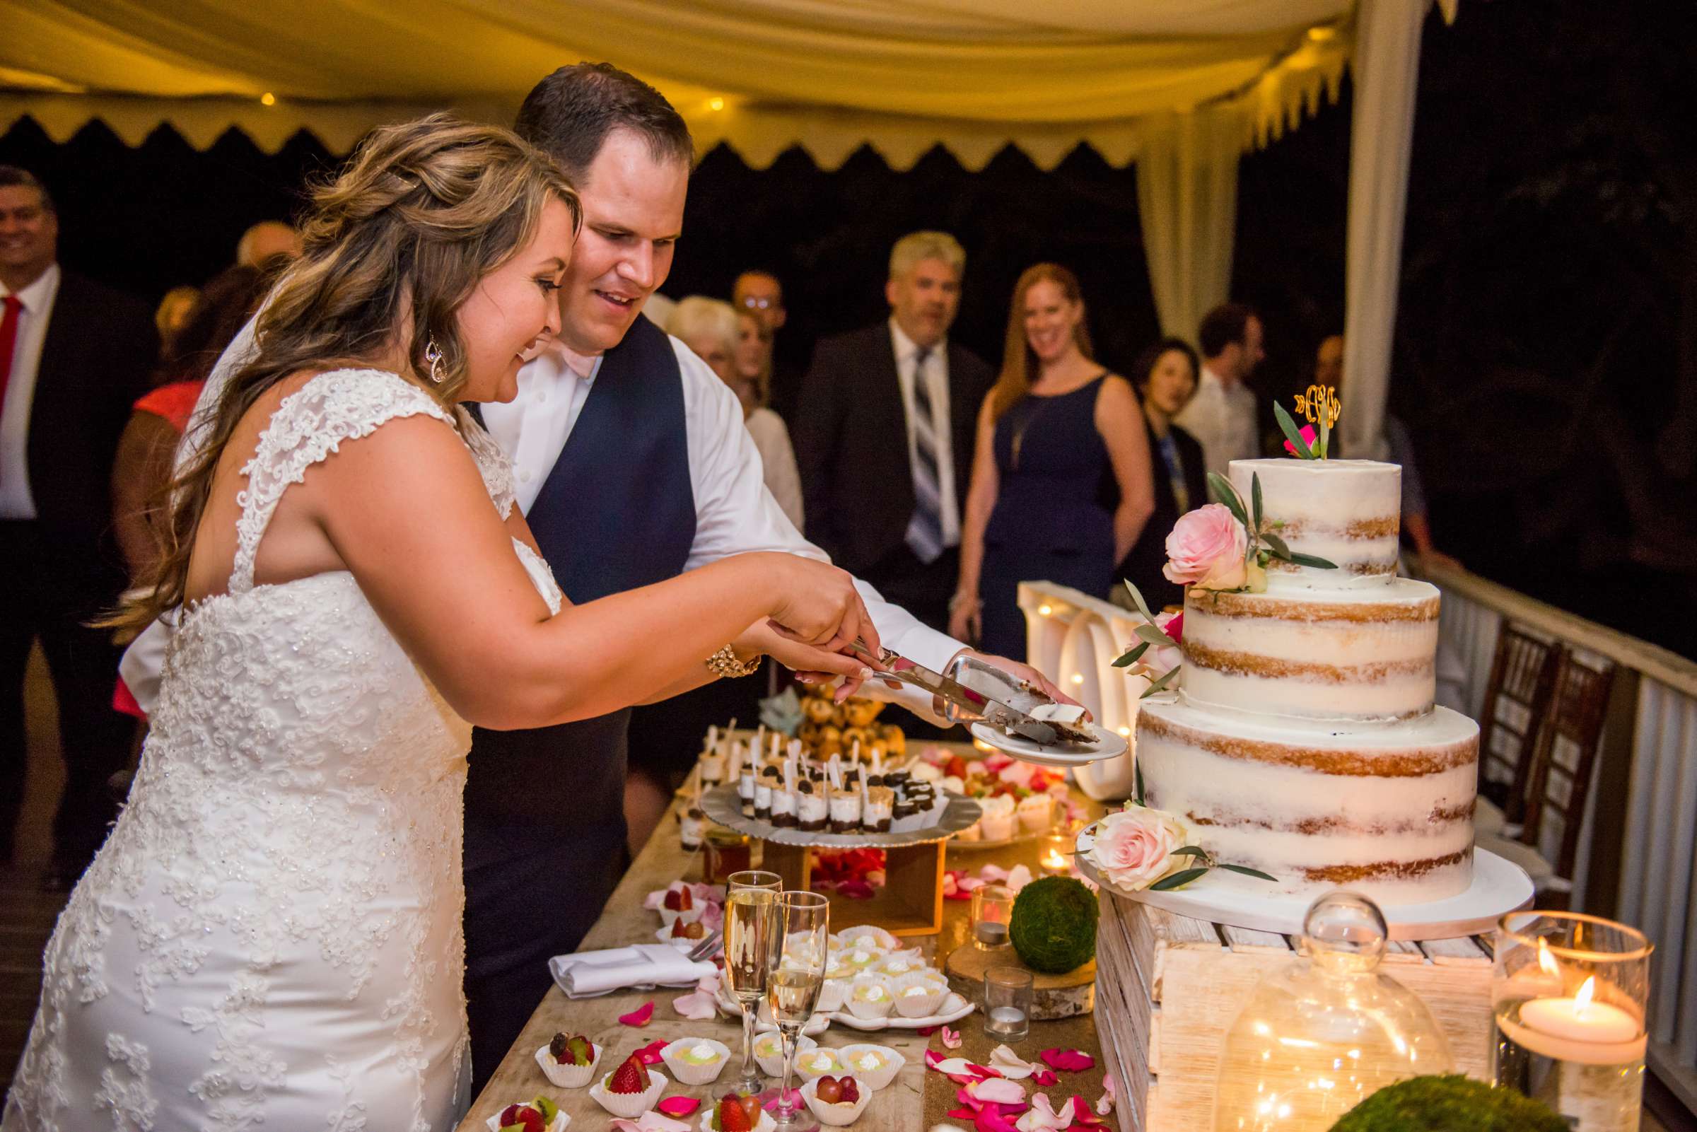
[[[1237,229],[1235,104],[1166,114],[1144,129],[1137,158],[1137,214],[1161,329],[1195,341],[1196,324],[1232,285]]]

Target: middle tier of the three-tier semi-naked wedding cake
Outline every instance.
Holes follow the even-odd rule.
[[[1191,587],[1185,696],[1264,715],[1407,720],[1432,708],[1436,587],[1392,579],[1319,594],[1271,580],[1264,594]]]

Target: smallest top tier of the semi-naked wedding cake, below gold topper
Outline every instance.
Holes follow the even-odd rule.
[[[1261,477],[1263,519],[1297,553],[1336,570],[1274,558],[1269,587],[1337,591],[1388,586],[1397,577],[1402,468],[1376,460],[1232,460],[1232,485],[1251,502]]]

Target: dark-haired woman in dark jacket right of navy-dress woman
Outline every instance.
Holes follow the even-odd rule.
[[[1115,572],[1129,579],[1151,609],[1185,604],[1185,587],[1161,574],[1166,563],[1166,536],[1178,516],[1208,502],[1207,467],[1196,438],[1173,423],[1196,392],[1196,351],[1183,338],[1162,338],[1139,355],[1132,365],[1149,428],[1149,468],[1154,480],[1156,509],[1132,552]],[[1130,596],[1118,582],[1108,599],[1130,608]]]

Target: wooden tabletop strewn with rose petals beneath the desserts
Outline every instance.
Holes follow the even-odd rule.
[[[1086,806],[1091,818],[1101,813],[1101,806],[1098,803],[1091,803],[1081,794],[1074,794],[1074,799]],[[993,850],[952,849],[949,852],[947,867],[976,872],[986,864],[998,864],[1006,869],[1011,869],[1017,864],[1027,864],[1032,867],[1033,874],[1042,876],[1037,869],[1040,847],[1042,842],[1033,840]],[[631,864],[630,872],[624,874],[624,879],[613,893],[613,899],[608,901],[601,918],[584,939],[582,950],[655,942],[655,932],[660,928],[660,916],[643,908],[643,898],[677,879],[701,879],[701,854],[686,854],[682,850],[677,837],[674,808],[674,813],[667,815],[667,818],[660,823],[658,832],[648,840],[641,854]],[[942,932],[938,935],[915,937],[903,942],[910,947],[920,947],[927,957],[940,967],[942,959],[954,947],[966,942],[969,916],[971,901],[945,899]],[[837,930],[837,927],[838,925],[833,923],[832,930]],[[546,1045],[548,1039],[560,1030],[567,1034],[584,1034],[592,1042],[604,1045],[606,1052],[601,1061],[602,1071],[611,1071],[624,1057],[628,1057],[631,1051],[653,1040],[670,1042],[679,1037],[713,1037],[725,1042],[731,1049],[731,1064],[726,1066],[720,1081],[704,1086],[684,1086],[672,1081],[670,1088],[665,1091],[665,1096],[686,1095],[703,1098],[703,1108],[699,1108],[694,1115],[686,1117],[691,1125],[697,1125],[701,1112],[704,1112],[706,1105],[711,1103],[713,1091],[723,1088],[723,1083],[736,1073],[736,1064],[740,1064],[742,1059],[742,1025],[726,1018],[713,1018],[708,1022],[691,1022],[687,1018],[680,1018],[677,1012],[672,1010],[672,1000],[680,995],[687,995],[689,989],[691,988],[660,988],[655,991],[623,991],[601,998],[568,1000],[560,988],[550,988],[548,995],[538,1005],[536,1013],[531,1015],[529,1025],[526,1025],[524,1032],[519,1035],[519,1040],[511,1051],[507,1051],[506,1059],[489,1079],[487,1088],[472,1103],[465,1120],[460,1122],[460,1132],[487,1132],[489,1117],[499,1113],[512,1101],[526,1101],[538,1093],[557,1101],[560,1108],[572,1117],[574,1130],[608,1127],[611,1117],[604,1108],[601,1108],[601,1105],[591,1100],[587,1088],[555,1088],[548,1083],[548,1078],[543,1076],[541,1068],[536,1064],[536,1049],[540,1045]],[[650,1000],[655,1003],[655,1012],[653,1020],[648,1025],[633,1028],[619,1023],[619,1015],[630,1013]],[[994,1042],[984,1040],[983,1015],[974,1012],[972,1015],[962,1018],[957,1025],[967,1039],[966,1045],[959,1052],[988,1057]],[[899,1076],[891,1081],[888,1088],[872,1095],[865,1112],[852,1125],[855,1129],[877,1129],[879,1132],[905,1129],[923,1130],[930,1127],[930,1124],[927,1124],[928,1115],[932,1120],[937,1120],[944,1112],[955,1107],[955,1084],[944,1074],[925,1069],[925,1051],[932,1047],[933,1042],[937,1042],[937,1049],[942,1049],[937,1035],[918,1037],[913,1030],[862,1032],[833,1023],[826,1032],[820,1034],[816,1040],[820,1045],[826,1047],[876,1042],[879,1045],[889,1045],[906,1057],[906,1064],[903,1066]],[[1039,1052],[1052,1045],[1084,1049],[1096,1057],[1098,1062],[1098,1068],[1093,1073],[1061,1074],[1061,1083],[1045,1090],[1054,1103],[1064,1103],[1073,1093],[1079,1093],[1088,1101],[1095,1103],[1096,1098],[1101,1096],[1103,1057],[1100,1047],[1096,1045],[1091,1020],[1084,1017],[1066,1022],[1035,1022],[1032,1023],[1032,1035],[1023,1042],[1013,1044],[1013,1049],[1022,1057],[1037,1061]],[[655,1066],[655,1069],[665,1073],[665,1066]],[[667,1074],[667,1078],[670,1078],[670,1074]],[[971,1125],[971,1120],[964,1124]]]

